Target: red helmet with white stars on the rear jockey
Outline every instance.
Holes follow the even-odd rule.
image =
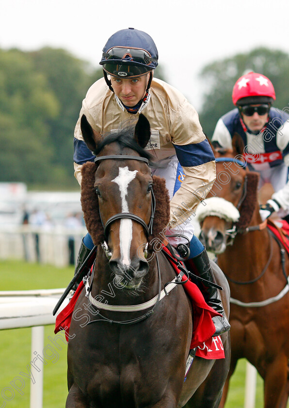
[[[234,105],[271,103],[276,99],[274,87],[265,75],[249,72],[242,75],[233,88]]]

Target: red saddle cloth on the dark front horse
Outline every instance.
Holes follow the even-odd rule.
[[[168,253],[166,247],[164,250]],[[177,265],[170,261],[171,265],[178,274],[180,270]],[[185,281],[186,277],[183,276],[182,280]],[[224,347],[220,336],[212,337],[215,332],[215,326],[212,322],[212,317],[220,316],[213,308],[211,308],[205,302],[200,289],[190,280],[183,285],[187,295],[192,301],[193,307],[193,333],[191,340],[191,349],[197,347],[196,356],[207,359],[225,358]],[[69,340],[69,328],[70,322],[74,310],[74,306],[80,295],[81,290],[84,288],[84,284],[81,281],[78,289],[70,300],[69,304],[57,315],[54,333],[58,333],[60,330],[65,330],[65,337]],[[169,296],[169,294],[168,294]]]

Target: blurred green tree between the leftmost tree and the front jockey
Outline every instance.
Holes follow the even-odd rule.
[[[102,76],[102,69],[95,70],[62,49],[46,47],[30,56],[35,70],[45,74],[60,106],[57,117],[47,120],[55,177],[59,184],[70,180],[73,185],[73,131],[87,89]]]

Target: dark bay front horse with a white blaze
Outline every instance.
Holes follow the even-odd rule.
[[[133,130],[101,140],[82,116],[81,130],[96,154],[82,168],[81,203],[97,251],[69,330],[66,408],[216,408],[229,333],[222,335],[226,358],[195,357],[184,382],[192,304],[181,285],[162,298],[176,272],[151,245],[169,221],[169,197],[148,166],[149,122],[140,115]],[[228,284],[214,271],[228,315]]]

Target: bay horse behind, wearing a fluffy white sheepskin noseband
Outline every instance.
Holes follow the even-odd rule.
[[[200,240],[217,255],[231,290],[231,364],[220,407],[224,407],[237,361],[244,357],[264,380],[264,407],[285,408],[289,259],[260,218],[259,175],[244,166],[243,151],[237,134],[233,150],[214,151],[217,180],[204,202],[207,205],[197,209]]]

